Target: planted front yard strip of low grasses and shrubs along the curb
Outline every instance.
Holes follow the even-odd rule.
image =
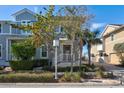
[[[58,68],[58,79],[54,79],[54,67],[44,67],[42,70],[13,70],[5,72],[1,70],[0,83],[84,83],[85,81],[97,79],[114,79],[115,76],[110,72],[105,72],[101,66],[89,66],[84,64],[73,68],[70,73],[70,67]],[[86,83],[86,82],[85,82]]]

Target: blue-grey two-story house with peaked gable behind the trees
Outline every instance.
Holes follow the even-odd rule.
[[[13,42],[25,39],[27,36],[32,35],[30,31],[23,31],[11,26],[11,23],[15,24],[32,24],[36,22],[37,19],[34,16],[35,13],[28,10],[22,9],[12,16],[14,17],[14,21],[11,20],[0,20],[0,65],[8,66],[9,60],[13,60],[14,56],[11,52],[11,45]],[[61,35],[61,27],[57,31],[58,37],[63,37]],[[52,46],[52,45],[51,45]],[[48,51],[46,45],[42,45],[40,48],[36,49],[35,59],[49,59],[54,63],[54,50]],[[69,62],[72,60],[76,60],[78,58],[77,54],[73,55],[73,43],[71,40],[64,40],[63,43],[60,43],[58,47],[58,61],[59,62]]]

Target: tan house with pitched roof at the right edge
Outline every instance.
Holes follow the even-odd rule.
[[[95,61],[99,62],[99,58],[102,58],[106,63],[120,64],[119,57],[113,48],[115,44],[124,42],[124,25],[107,25],[101,34],[101,38],[103,45],[100,51],[98,51],[96,46],[92,47],[92,54],[95,55]]]

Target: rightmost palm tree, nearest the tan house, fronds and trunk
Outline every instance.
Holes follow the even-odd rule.
[[[87,31],[85,34],[86,42],[87,42],[87,49],[88,49],[88,63],[91,65],[91,46],[96,44],[101,44],[102,41],[98,37],[99,31],[96,30],[94,32]]]

